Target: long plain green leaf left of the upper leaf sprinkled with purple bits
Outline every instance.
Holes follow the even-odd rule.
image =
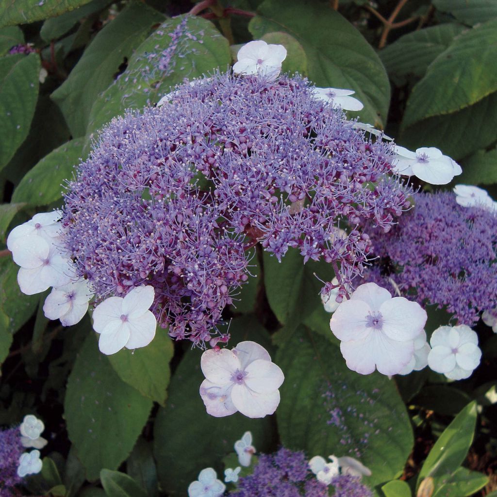
[[[86,132],[91,107],[113,81],[119,66],[164,15],[145,3],[130,2],[95,36],[69,78],[52,93],[73,137]]]

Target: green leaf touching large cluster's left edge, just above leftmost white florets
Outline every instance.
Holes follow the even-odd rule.
[[[12,195],[13,202],[48,205],[62,199],[64,180],[71,179],[83,155],[83,138],[76,138],[50,152],[28,171]]]

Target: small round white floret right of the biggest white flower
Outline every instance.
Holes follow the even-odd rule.
[[[441,326],[430,338],[428,366],[451,380],[469,378],[480,364],[478,335],[469,326]]]

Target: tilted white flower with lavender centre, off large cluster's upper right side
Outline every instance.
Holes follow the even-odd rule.
[[[461,166],[450,157],[442,155],[435,147],[421,147],[415,152],[404,147],[395,147],[397,157],[392,170],[404,176],[417,176],[433,185],[450,183],[454,176],[461,174]]]

